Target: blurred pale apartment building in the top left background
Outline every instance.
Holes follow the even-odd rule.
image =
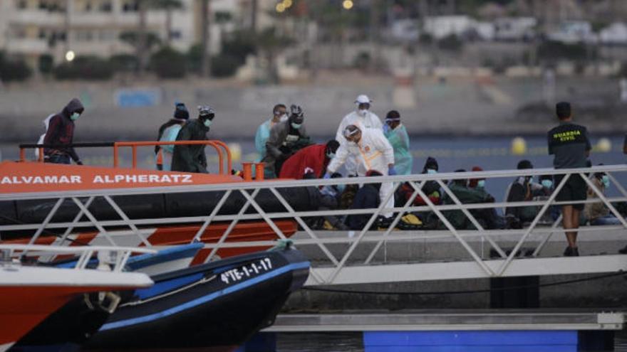
[[[148,0],[146,30],[161,43],[187,51],[202,37],[201,0],[180,0],[180,7],[159,8],[160,1]],[[252,6],[256,3],[256,6]],[[242,23],[250,26],[257,7],[257,28],[269,26],[267,15],[273,0],[211,0],[212,53],[219,52],[223,31]],[[122,33],[137,33],[140,22],[138,0],[1,0],[0,50],[36,65],[41,55],[63,60],[68,50],[76,55],[108,58],[130,53],[135,48],[120,39]],[[168,31],[170,35],[168,36]]]

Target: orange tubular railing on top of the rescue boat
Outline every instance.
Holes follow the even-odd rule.
[[[113,148],[113,167],[120,166],[120,149],[123,147],[130,147],[131,149],[131,166],[133,169],[138,167],[138,147],[140,146],[163,146],[163,145],[206,145],[215,149],[218,154],[219,161],[219,174],[229,174],[232,170],[232,156],[229,146],[219,140],[206,140],[206,141],[174,141],[174,142],[153,142],[153,141],[140,141],[140,142],[94,142],[94,143],[72,143],[72,144],[20,144],[20,161],[26,161],[26,149],[38,149],[38,162],[43,162],[43,149],[44,148],[101,148],[112,147]]]

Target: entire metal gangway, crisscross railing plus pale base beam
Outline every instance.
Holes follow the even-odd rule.
[[[603,195],[591,177],[594,173],[608,175],[611,185],[618,196],[608,197]],[[524,201],[517,203],[494,202],[462,204],[452,193],[449,183],[452,180],[485,178],[487,182],[494,178],[506,178],[513,181],[520,176],[535,176],[561,174],[564,178],[554,185],[554,191],[546,199],[538,201]],[[517,277],[527,275],[555,275],[555,274],[585,274],[601,272],[618,272],[627,270],[627,255],[619,255],[616,243],[621,247],[627,244],[627,220],[618,213],[613,204],[627,201],[625,186],[618,181],[627,174],[627,165],[594,166],[586,169],[527,169],[506,171],[479,171],[442,174],[416,174],[410,176],[380,176],[359,178],[332,178],[299,181],[247,181],[221,184],[207,184],[195,186],[165,186],[151,188],[125,188],[103,189],[86,191],[49,191],[43,193],[0,194],[0,201],[21,201],[33,199],[54,200],[54,206],[46,215],[45,220],[38,224],[1,225],[0,239],[4,231],[31,230],[35,235],[34,241],[45,230],[61,229],[63,235],[56,243],[68,245],[63,242],[75,233],[75,228],[95,228],[98,232],[96,238],[104,239],[109,245],[145,245],[150,247],[150,233],[160,225],[178,224],[202,224],[195,236],[199,240],[204,230],[213,223],[228,223],[226,230],[217,242],[207,243],[205,247],[211,250],[207,260],[217,258],[217,251],[222,248],[233,247],[271,247],[276,245],[276,240],[291,240],[296,247],[304,250],[311,259],[311,274],[308,285],[331,284],[361,284],[375,282],[408,282],[421,280],[442,279],[471,279],[471,278],[495,278]],[[559,254],[547,250],[549,242],[557,241],[559,247],[566,246],[566,240],[562,235],[561,218],[556,218],[550,224],[541,223],[544,214],[551,206],[561,206],[555,200],[556,194],[564,187],[569,178],[581,177],[587,186],[596,194],[596,198],[586,201],[569,203],[603,203],[611,214],[619,219],[619,225],[584,225],[579,228],[580,237],[592,237],[598,240],[608,237],[613,241],[611,251],[594,253],[595,255],[582,255],[581,257],[562,257]],[[440,186],[442,196],[446,194],[452,200],[452,204],[436,205],[430,201],[423,191],[427,182],[433,181]],[[309,187],[319,190],[322,186],[340,184],[365,184],[393,182],[397,189],[402,183],[413,189],[413,195],[400,206],[385,208],[388,199],[383,199],[378,208],[372,209],[314,209],[296,211],[291,205],[290,199],[286,199],[281,190],[284,188]],[[182,216],[178,218],[141,218],[130,219],[115,201],[115,196],[133,196],[144,194],[162,193],[197,193],[200,191],[222,192],[217,206],[206,215]],[[259,202],[259,194],[270,194],[281,203],[284,209],[280,211],[266,211]],[[241,193],[246,203],[239,212],[222,214],[220,210],[230,195]],[[391,196],[391,195],[390,195]],[[413,198],[420,196],[425,201],[424,206],[414,206]],[[120,220],[99,220],[88,209],[96,199],[102,198],[118,213]],[[54,223],[51,221],[55,213],[64,201],[76,203],[80,212],[73,221],[66,223]],[[494,229],[488,230],[482,226],[474,210],[506,207],[537,207],[538,213],[529,225],[522,229]],[[447,218],[450,211],[461,211],[472,223],[473,229],[456,229]],[[384,230],[373,230],[378,215],[385,212],[394,212],[393,222]],[[443,230],[395,230],[400,218],[408,212],[432,212],[440,221]],[[345,216],[367,214],[368,223],[364,228],[354,231],[330,231],[313,229],[308,225],[308,218],[323,216]],[[82,220],[85,219],[86,220]],[[299,225],[299,231],[289,236],[281,231],[275,221],[294,219]],[[274,233],[276,240],[229,242],[229,234],[241,221],[258,220],[267,223]],[[120,229],[122,228],[122,229]],[[129,242],[132,238],[135,242]],[[435,241],[445,243],[439,257],[417,255],[408,256],[390,255],[390,248],[409,248],[412,245],[421,245],[429,250],[430,244]],[[524,249],[531,249],[527,255],[520,255]],[[457,253],[453,255],[453,253]]]

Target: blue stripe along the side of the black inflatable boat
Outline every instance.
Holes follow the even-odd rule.
[[[279,276],[280,274],[284,274],[286,272],[289,272],[291,270],[299,270],[299,269],[305,269],[305,268],[309,268],[311,265],[309,262],[299,262],[299,263],[294,263],[294,264],[290,264],[290,265],[285,265],[284,267],[279,267],[279,269],[277,270],[273,270],[271,272],[266,272],[265,274],[261,274],[258,277],[254,277],[252,279],[249,279],[247,281],[241,282],[239,284],[235,284],[231,287],[227,287],[225,289],[222,289],[220,291],[217,292],[213,292],[212,294],[207,294],[207,296],[203,296],[203,297],[199,297],[197,299],[194,299],[190,302],[186,302],[184,304],[181,304],[179,306],[173,306],[170,309],[166,309],[165,311],[160,311],[158,313],[155,314],[150,314],[147,316],[140,316],[138,318],[132,318],[132,319],[126,319],[126,320],[120,320],[120,321],[115,321],[113,323],[108,323],[108,324],[104,324],[99,331],[106,331],[106,330],[110,330],[110,329],[118,329],[118,328],[122,328],[124,326],[130,326],[130,325],[135,325],[135,324],[142,324],[142,323],[147,323],[148,321],[153,321],[156,319],[161,319],[165,316],[170,316],[172,314],[177,314],[180,313],[181,311],[185,311],[186,309],[190,309],[193,308],[195,306],[199,306],[200,304],[204,304],[207,303],[209,301],[212,301],[214,299],[217,299],[218,297],[224,296],[226,294],[231,294],[233,292],[237,292],[240,289],[244,289],[246,287],[250,287],[253,286],[254,284],[258,284],[259,282],[263,282],[267,279],[271,279],[272,277],[276,277]]]

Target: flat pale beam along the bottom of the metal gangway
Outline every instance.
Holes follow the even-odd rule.
[[[486,260],[485,265],[497,270],[505,260]],[[321,277],[328,277],[333,267],[316,267]],[[586,257],[524,258],[512,261],[499,277],[530,275],[598,274],[627,270],[627,255],[598,255]],[[356,265],[344,267],[333,282],[316,282],[312,275],[305,283],[366,284],[374,282],[410,282],[447,279],[487,279],[481,267],[473,262],[430,262],[414,264]]]

